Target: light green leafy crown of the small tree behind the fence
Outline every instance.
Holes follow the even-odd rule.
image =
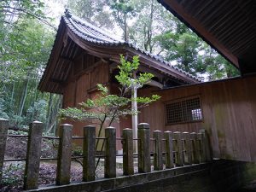
[[[79,104],[79,108],[65,108],[60,110],[61,117],[79,121],[91,121],[100,125],[98,135],[101,135],[103,125],[112,125],[120,116],[134,115],[139,111],[131,108],[131,102],[137,102],[137,108],[146,107],[160,96],[138,96],[131,98],[131,91],[136,87],[141,88],[154,77],[151,73],[140,73],[137,79],[133,73],[139,67],[138,56],[133,56],[132,62],[126,61],[124,55],[120,55],[119,74],[115,79],[119,82],[119,95],[109,94],[108,87],[97,84],[100,93],[94,99],[87,99]]]

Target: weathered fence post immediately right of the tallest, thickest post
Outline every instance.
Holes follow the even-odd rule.
[[[163,150],[162,150],[162,131],[156,130],[153,132],[154,137],[154,170],[163,169]]]

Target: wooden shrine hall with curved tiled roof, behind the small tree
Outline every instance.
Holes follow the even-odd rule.
[[[96,84],[106,84],[111,93],[116,93],[118,84],[114,76],[118,73],[120,54],[128,60],[139,55],[141,65],[138,73],[154,74],[154,79],[142,88],[143,91],[201,82],[172,67],[160,56],[151,55],[67,11],[61,17],[55,44],[38,89],[63,95],[63,108],[78,107],[80,102],[96,96]],[[80,127],[83,125],[76,122],[73,134],[82,135]],[[113,126],[119,136],[120,128],[131,127],[131,117],[121,119]]]

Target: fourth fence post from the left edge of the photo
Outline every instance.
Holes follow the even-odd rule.
[[[84,127],[83,146],[83,181],[95,180],[95,154],[96,154],[96,127],[88,125]]]

